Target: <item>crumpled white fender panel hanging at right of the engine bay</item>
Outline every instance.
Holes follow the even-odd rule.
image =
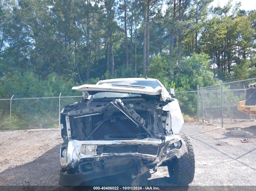
[[[170,133],[170,131],[173,132],[173,134],[178,134],[181,130],[181,127],[184,123],[184,119],[181,113],[181,109],[178,103],[177,99],[174,99],[174,101],[168,103],[163,107],[164,111],[167,112],[167,119],[165,124],[165,129]],[[171,133],[170,133],[171,134]]]

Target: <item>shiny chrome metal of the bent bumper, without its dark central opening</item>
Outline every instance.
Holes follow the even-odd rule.
[[[172,148],[171,145],[175,142],[181,141],[180,148]],[[97,146],[107,146],[107,145],[155,145],[158,146],[158,154],[141,154],[141,153],[95,153]],[[60,158],[60,163],[62,167],[75,167],[80,159],[83,158],[93,158],[96,161],[101,160],[106,156],[133,156],[135,158],[143,158],[148,161],[153,161],[158,167],[163,162],[177,157],[180,158],[183,154],[187,152],[187,147],[183,139],[178,135],[165,136],[165,141],[155,138],[145,138],[140,140],[121,140],[121,141],[77,141],[70,140],[65,144],[67,147],[67,153],[64,157]],[[87,153],[86,153],[87,152]]]

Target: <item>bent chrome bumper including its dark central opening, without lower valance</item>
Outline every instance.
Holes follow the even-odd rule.
[[[136,158],[148,159],[148,161],[152,161],[151,164],[156,164],[156,167],[158,167],[164,161],[175,156],[180,158],[187,152],[184,141],[177,135],[166,137],[165,141],[161,139],[147,139],[122,141],[71,140],[62,144],[62,148],[67,148],[67,150],[66,157],[61,157],[61,166],[73,168],[83,158],[93,158],[99,161],[106,156],[134,156]],[[173,145],[175,142],[181,142],[181,146],[175,147]],[[133,148],[125,148],[127,145],[132,145]]]

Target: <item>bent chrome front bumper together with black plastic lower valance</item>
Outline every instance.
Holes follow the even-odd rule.
[[[175,144],[174,143],[178,143]],[[135,150],[123,146],[135,145]],[[118,148],[119,152],[103,153],[101,146]],[[153,149],[153,148],[157,149]],[[145,149],[146,148],[146,149]],[[62,155],[66,149],[65,156]],[[94,149],[94,150],[93,150]],[[88,152],[87,152],[88,151]],[[179,135],[165,136],[163,139],[145,138],[121,141],[77,141],[62,143],[60,152],[59,184],[77,186],[84,181],[126,173],[132,176],[143,174],[156,168],[171,158],[180,158],[187,152],[187,146]],[[155,152],[155,154],[153,154]],[[68,172],[68,170],[71,170]],[[72,171],[74,170],[74,171]]]

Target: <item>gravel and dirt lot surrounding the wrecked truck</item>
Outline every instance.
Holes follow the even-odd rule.
[[[256,137],[242,143],[229,130],[189,124],[196,170],[191,185],[256,185]],[[58,185],[59,129],[0,132],[0,185]],[[166,167],[159,167],[143,185],[168,185]]]

